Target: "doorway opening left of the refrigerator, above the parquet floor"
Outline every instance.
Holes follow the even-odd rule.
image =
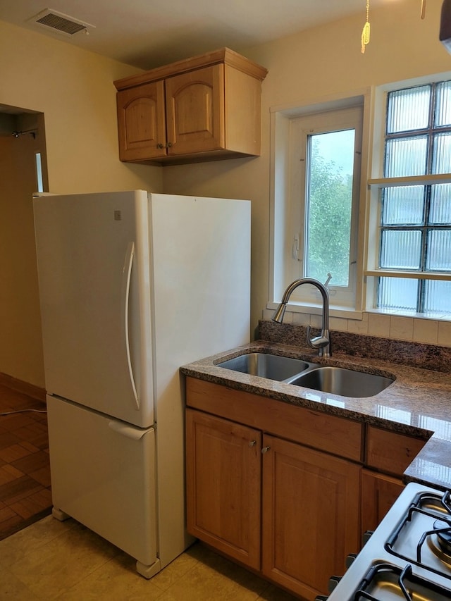
[[[32,207],[39,190],[49,190],[44,113],[0,104],[0,384],[32,396],[44,393]]]

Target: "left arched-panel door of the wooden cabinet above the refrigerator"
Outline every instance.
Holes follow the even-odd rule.
[[[163,82],[121,90],[117,95],[121,161],[166,155]]]

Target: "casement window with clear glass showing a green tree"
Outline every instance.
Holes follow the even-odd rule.
[[[290,277],[328,282],[334,305],[354,306],[362,107],[290,123]],[[293,298],[314,303],[316,290]]]

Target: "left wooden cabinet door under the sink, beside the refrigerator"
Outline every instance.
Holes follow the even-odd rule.
[[[260,568],[261,434],[187,409],[187,528]]]

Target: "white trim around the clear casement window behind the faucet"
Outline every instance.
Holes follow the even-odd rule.
[[[368,180],[368,165],[370,160],[370,125],[373,114],[373,94],[371,88],[354,91],[346,96],[333,95],[316,99],[304,104],[276,106],[270,109],[271,117],[271,173],[270,173],[270,260],[269,260],[269,290],[267,309],[276,309],[278,302],[290,279],[290,270],[285,261],[290,256],[292,238],[288,228],[289,214],[286,210],[288,190],[290,187],[290,120],[299,116],[346,109],[363,105],[362,127],[362,171],[359,192],[359,237],[357,241],[356,269],[356,299],[353,308],[334,307],[331,298],[331,316],[346,316],[362,318],[364,278],[363,270],[366,265],[366,191]],[[290,302],[288,310],[298,313],[316,314],[319,303]]]

